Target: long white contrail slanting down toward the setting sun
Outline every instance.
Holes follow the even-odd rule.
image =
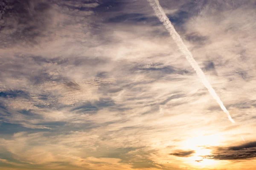
[[[221,102],[221,99],[218,97],[218,95],[215,93],[214,89],[212,88],[212,85],[208,82],[206,79],[204,72],[199,67],[198,63],[193,58],[191,52],[184,44],[183,40],[181,39],[180,35],[175,30],[174,26],[170,22],[169,18],[166,16],[166,14],[163,11],[163,8],[160,6],[158,0],[148,0],[152,8],[154,9],[155,14],[157,15],[158,19],[163,23],[167,31],[169,31],[170,35],[172,36],[173,40],[176,42],[178,48],[180,51],[186,56],[186,59],[189,61],[189,64],[194,68],[196,71],[196,74],[201,79],[201,82],[204,84],[204,86],[208,89],[212,97],[217,101],[217,103],[220,105],[221,109],[227,114],[228,119],[230,122],[235,123],[235,121],[231,118],[230,113],[227,111],[223,103]]]

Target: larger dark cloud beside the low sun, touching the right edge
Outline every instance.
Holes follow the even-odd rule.
[[[256,157],[256,142],[247,142],[238,146],[226,148],[218,147],[216,148],[215,153],[203,157],[216,160],[252,159]]]

